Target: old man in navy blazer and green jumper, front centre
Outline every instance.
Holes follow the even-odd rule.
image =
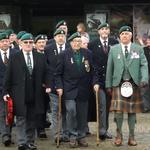
[[[69,37],[71,47],[60,54],[56,68],[56,90],[64,98],[70,147],[87,147],[85,126],[90,96],[92,62],[89,51],[81,48],[78,32]],[[84,108],[84,109],[83,109]]]

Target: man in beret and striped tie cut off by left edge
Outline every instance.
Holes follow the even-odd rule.
[[[17,52],[9,47],[9,36],[5,32],[0,33],[0,131],[2,143],[5,146],[10,146],[11,144],[11,126],[6,125],[6,104],[2,97],[3,81],[9,58]]]

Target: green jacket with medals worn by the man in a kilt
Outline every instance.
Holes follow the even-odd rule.
[[[111,47],[107,62],[106,88],[120,84],[125,68],[125,56],[121,44]],[[148,83],[148,64],[141,46],[132,43],[127,58],[127,68],[136,85],[146,81]]]

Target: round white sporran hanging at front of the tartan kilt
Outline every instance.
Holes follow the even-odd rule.
[[[130,82],[126,81],[126,82],[123,82],[122,85],[121,85],[121,95],[123,97],[130,97],[132,96],[133,94],[133,86]]]

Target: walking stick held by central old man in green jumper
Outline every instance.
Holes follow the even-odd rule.
[[[61,95],[58,95],[58,127],[57,127],[57,148],[60,145],[60,130],[61,130]]]

